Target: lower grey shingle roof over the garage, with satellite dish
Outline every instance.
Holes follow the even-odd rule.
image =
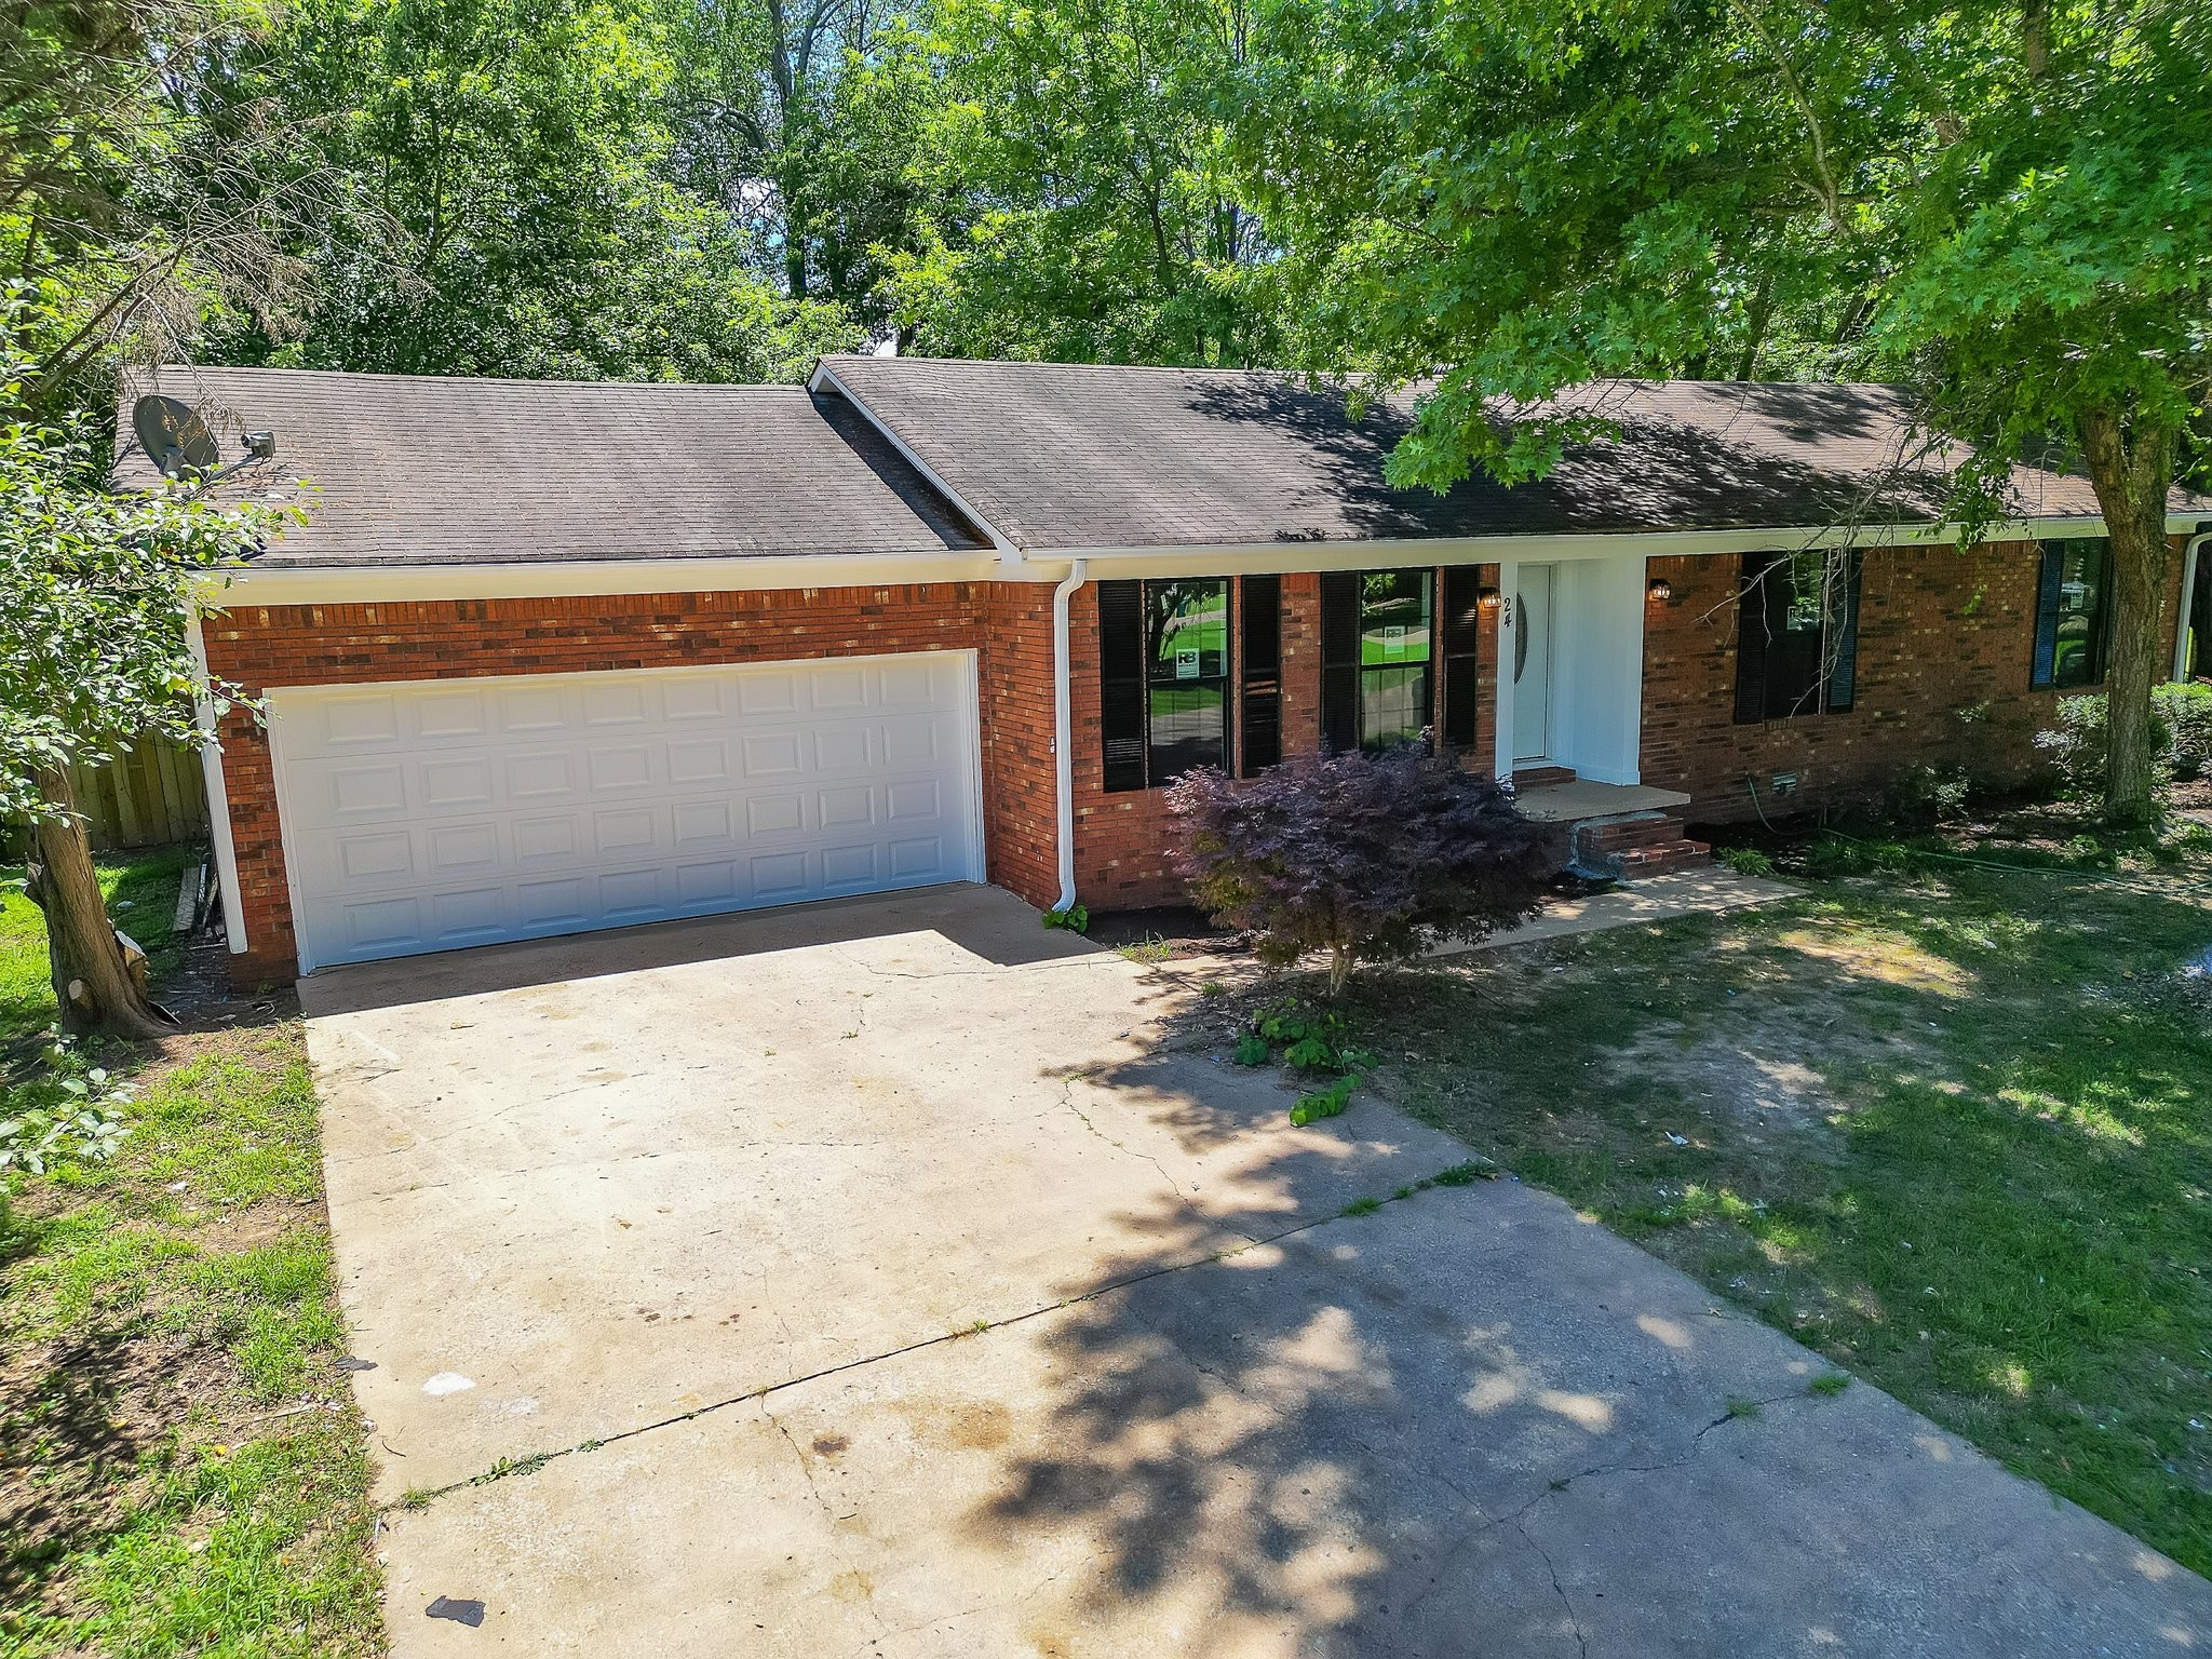
[[[969,553],[987,542],[849,403],[803,387],[460,380],[168,367],[124,387],[201,409],[219,491],[310,509],[261,564],[522,564],[628,557]]]

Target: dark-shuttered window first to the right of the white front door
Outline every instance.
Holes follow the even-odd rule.
[[[1745,553],[1736,723],[1843,714],[1858,692],[1858,549]]]

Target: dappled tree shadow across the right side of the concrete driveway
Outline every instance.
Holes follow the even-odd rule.
[[[1436,982],[1464,975],[1371,993],[1402,1011]],[[2172,1568],[2048,1520],[1986,1464],[1931,1460],[1874,1391],[1812,1398],[1823,1363],[1588,1219],[1511,1183],[1394,1201],[1464,1152],[1374,1104],[1298,1135],[1281,1093],[1188,1055],[1102,1082],[1181,1152],[1252,1157],[1124,1217],[1144,1245],[1037,1327],[1046,1416],[967,1535],[1009,1573],[1086,1542],[1066,1628],[1040,1597],[1042,1652],[1108,1621],[1164,1650],[1203,1628],[1208,1652],[1882,1650],[1966,1630],[2039,1650],[2051,1630],[2132,1639],[2163,1595],[2068,1613]],[[1223,1232],[1265,1243],[1181,1267]],[[1986,1526],[2013,1540],[1995,1566]]]

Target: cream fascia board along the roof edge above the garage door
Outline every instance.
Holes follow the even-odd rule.
[[[721,560],[549,560],[544,564],[230,564],[199,580],[212,611],[241,604],[396,604],[405,599],[575,599],[602,593],[896,588],[991,582],[991,553],[821,553]]]

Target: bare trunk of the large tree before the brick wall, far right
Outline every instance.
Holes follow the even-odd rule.
[[[2166,540],[2174,431],[2141,422],[2130,429],[2119,409],[2095,409],[2081,418],[2081,449],[2112,544],[2104,816],[2143,825],[2157,812],[2150,692],[2166,677],[2166,602],[2174,586],[2174,549]]]

